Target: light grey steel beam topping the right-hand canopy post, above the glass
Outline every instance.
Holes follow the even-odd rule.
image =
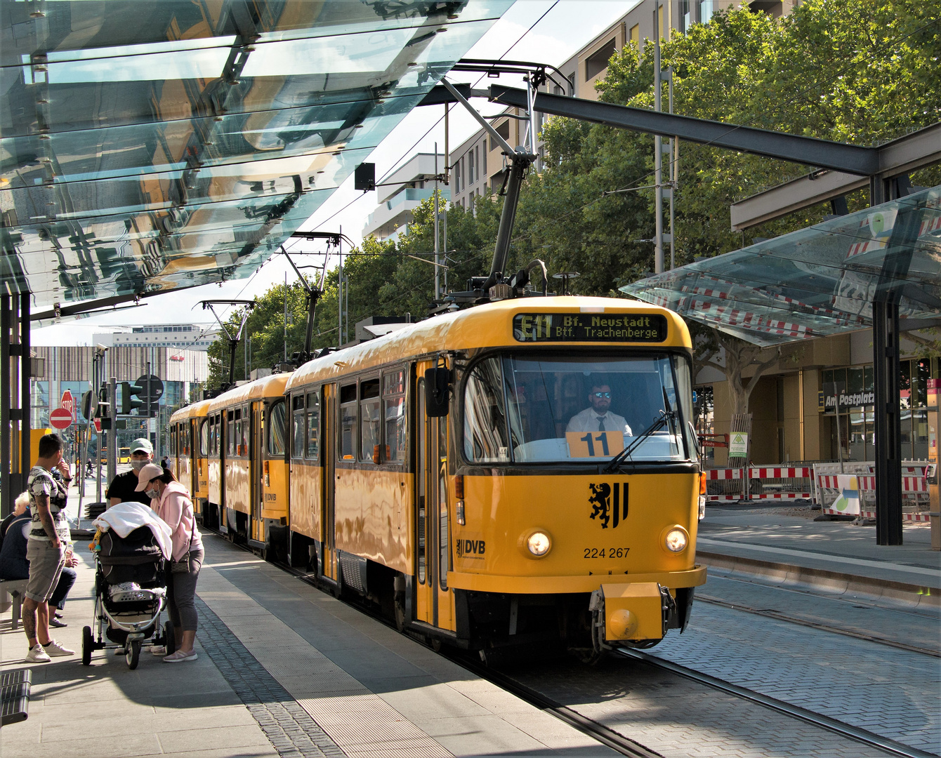
[[[941,162],[941,121],[905,134],[875,150],[879,153],[880,179],[890,179]],[[732,203],[732,231],[774,221],[817,203],[869,186],[866,177],[841,171],[814,171],[800,179],[779,184],[752,197]]]

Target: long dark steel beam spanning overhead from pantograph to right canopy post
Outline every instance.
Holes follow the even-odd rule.
[[[523,110],[528,106],[525,89],[501,85],[490,85],[490,101],[512,105]],[[591,100],[566,97],[566,95],[550,95],[547,92],[536,94],[534,108],[551,116],[578,118],[582,121],[594,121],[606,126],[647,134],[676,136],[689,142],[714,145],[728,150],[741,150],[768,158],[778,158],[805,166],[831,168],[859,176],[871,176],[879,170],[879,152],[875,148],[861,148],[815,137],[769,132],[750,126],[659,113],[626,105],[596,103]]]

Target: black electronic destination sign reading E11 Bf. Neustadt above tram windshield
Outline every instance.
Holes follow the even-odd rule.
[[[518,342],[662,342],[666,318],[657,313],[518,313]]]

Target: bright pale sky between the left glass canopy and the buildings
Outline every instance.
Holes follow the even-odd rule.
[[[506,58],[528,60],[560,66],[582,45],[593,39],[618,18],[627,13],[640,0],[517,0],[490,30],[474,45],[465,57]],[[548,12],[547,12],[548,11]],[[540,20],[541,19],[541,20]],[[538,23],[536,23],[538,22]],[[535,25],[533,25],[535,24]],[[533,27],[531,31],[530,27]],[[474,84],[479,74],[449,76],[455,83]],[[519,86],[521,80],[502,76],[500,83],[508,87]],[[486,87],[482,83],[481,87]],[[500,106],[484,100],[472,101],[484,115],[497,113]],[[369,158],[375,163],[376,180],[403,163],[414,152],[433,152],[435,142],[444,150],[443,107],[415,108],[373,151]],[[421,141],[418,137],[431,130]],[[456,147],[478,129],[477,123],[459,105],[451,111],[448,141]],[[352,175],[337,189],[324,205],[300,229],[305,231],[339,231],[358,244],[366,217],[375,210],[374,192],[353,189]],[[292,240],[288,245],[292,253],[322,253],[324,248],[316,242]],[[330,268],[336,263],[334,256]],[[303,263],[321,265],[319,256],[306,258]],[[97,332],[114,331],[115,326],[127,324],[215,324],[211,313],[200,307],[202,300],[250,299],[271,286],[295,280],[295,273],[281,255],[273,256],[250,278],[237,279],[222,286],[210,284],[184,292],[168,292],[141,301],[136,308],[119,308],[81,320],[55,324],[32,332],[34,345],[91,345]],[[172,313],[173,319],[167,320]],[[226,317],[227,308],[220,315]]]

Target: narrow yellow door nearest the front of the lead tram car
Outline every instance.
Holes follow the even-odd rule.
[[[420,364],[419,376],[423,375]],[[454,604],[448,591],[451,564],[448,517],[448,419],[428,418],[424,379],[418,380],[415,466],[415,618],[442,629],[454,629]]]

